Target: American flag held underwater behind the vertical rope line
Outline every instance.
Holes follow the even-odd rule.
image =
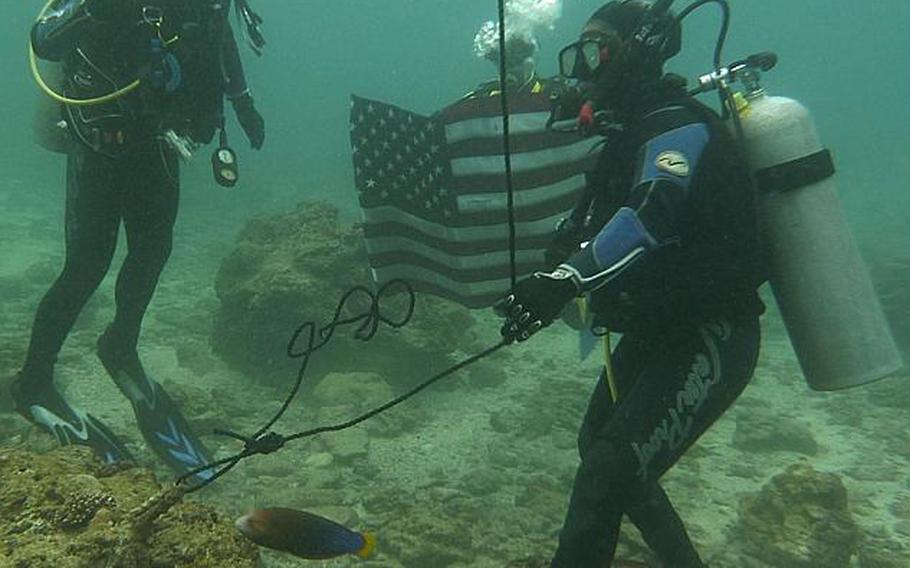
[[[353,96],[354,179],[373,278],[468,307],[509,289],[501,101],[468,96],[433,116]],[[584,188],[597,139],[545,128],[543,89],[511,95],[516,272],[543,267],[556,223]]]

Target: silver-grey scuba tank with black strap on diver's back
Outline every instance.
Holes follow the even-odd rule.
[[[809,386],[836,390],[884,378],[903,367],[872,279],[847,225],[834,165],[810,112],[765,93],[758,54],[699,79],[698,92],[725,90],[759,192],[759,227],[771,290]],[[731,100],[728,98],[728,100]],[[738,124],[736,124],[738,123]]]

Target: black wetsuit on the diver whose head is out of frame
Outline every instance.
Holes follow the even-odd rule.
[[[180,193],[179,160],[163,136],[209,142],[223,124],[224,97],[247,93],[227,20],[230,2],[150,0],[141,10],[139,4],[129,17],[104,21],[78,0],[59,0],[32,29],[38,56],[63,64],[66,96],[98,97],[137,73],[141,84],[109,103],[61,108],[74,142],[66,263],[35,317],[22,373],[26,395],[50,385],[64,340],[110,267],[121,222],[128,253],[106,335],[118,350],[135,350],[171,252]]]

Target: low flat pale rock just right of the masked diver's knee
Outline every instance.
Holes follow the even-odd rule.
[[[760,409],[736,415],[733,447],[744,452],[787,451],[814,456],[818,442],[804,423]]]

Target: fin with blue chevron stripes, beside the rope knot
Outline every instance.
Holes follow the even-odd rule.
[[[111,378],[129,399],[146,443],[177,475],[184,475],[210,463],[211,455],[177,404],[139,362],[135,350],[117,351],[107,334],[98,340],[98,358]],[[194,482],[211,479],[214,469],[203,470]]]

